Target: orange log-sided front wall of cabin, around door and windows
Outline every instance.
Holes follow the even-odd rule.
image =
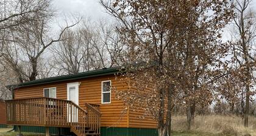
[[[124,103],[116,100],[115,91],[112,90],[111,103],[101,104],[101,81],[111,80],[112,86],[117,90],[127,89],[127,83],[116,79],[115,75],[86,78],[83,80],[65,81],[60,83],[42,84],[30,87],[20,87],[15,90],[14,98],[43,97],[43,89],[56,87],[56,96],[60,99],[67,98],[67,83],[80,82],[79,106],[85,109],[85,103],[100,104],[102,127],[127,127],[127,113],[123,113]]]

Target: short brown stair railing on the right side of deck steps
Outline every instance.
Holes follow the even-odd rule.
[[[85,107],[88,113],[88,126],[96,134],[101,134],[101,112],[99,112],[99,105],[85,103]]]

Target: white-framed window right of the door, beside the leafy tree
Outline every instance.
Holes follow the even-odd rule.
[[[111,103],[111,81],[102,81],[101,92],[101,103]]]

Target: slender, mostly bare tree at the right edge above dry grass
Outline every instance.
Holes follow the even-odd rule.
[[[236,0],[235,15],[233,16],[232,33],[232,62],[234,69],[238,69],[237,76],[243,81],[246,91],[244,126],[248,126],[250,97],[255,94],[252,87],[255,85],[255,38],[256,17],[255,11],[250,9],[251,0]]]

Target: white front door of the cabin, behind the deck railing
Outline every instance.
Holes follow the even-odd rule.
[[[73,101],[73,103],[79,105],[79,84],[78,83],[68,83],[67,85],[67,100]],[[78,109],[73,105],[68,105],[68,121],[77,122]]]

